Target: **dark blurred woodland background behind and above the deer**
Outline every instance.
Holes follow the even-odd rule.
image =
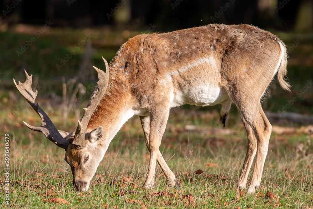
[[[127,39],[218,23],[252,24],[278,35],[287,45],[287,76],[293,88],[285,92],[274,80],[263,107],[313,114],[311,0],[4,0],[0,11],[0,100],[18,110],[24,105],[18,106],[21,97],[12,79],[24,81],[24,69],[34,75],[33,86],[49,105],[69,107],[66,118],[81,95],[84,101],[90,97],[87,86],[97,80],[92,65],[103,68],[101,56],[110,61]],[[216,107],[210,108],[200,110]],[[272,116],[277,121],[282,114]],[[284,116],[313,122],[310,117]]]

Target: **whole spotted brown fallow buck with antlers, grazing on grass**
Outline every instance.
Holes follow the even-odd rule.
[[[39,127],[25,125],[65,149],[65,161],[77,191],[86,191],[108,146],[121,126],[133,115],[140,116],[150,162],[145,187],[154,184],[156,161],[167,180],[178,186],[175,175],[159,151],[170,108],[183,104],[222,104],[224,125],[232,103],[241,113],[247,131],[248,150],[238,186],[245,187],[256,155],[248,192],[259,188],[272,126],[260,99],[277,74],[285,81],[285,44],[275,35],[250,25],[219,25],[178,30],[163,34],[141,34],[121,46],[105,72],[98,72],[93,92],[76,131],[55,128],[35,101],[32,76],[16,87],[42,119]],[[109,72],[110,69],[110,72]]]

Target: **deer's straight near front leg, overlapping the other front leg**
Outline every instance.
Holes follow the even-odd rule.
[[[145,188],[152,188],[154,186],[156,159],[160,153],[159,147],[166,128],[168,113],[169,107],[164,103],[159,103],[150,110],[150,132],[148,148],[150,150],[150,161]]]

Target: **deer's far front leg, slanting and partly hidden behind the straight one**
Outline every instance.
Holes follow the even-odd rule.
[[[150,152],[150,146],[149,146],[149,133],[150,133],[150,118],[140,116],[141,125],[143,128],[143,132],[145,134],[145,140],[147,148]],[[165,177],[169,181],[169,183],[174,187],[179,187],[178,181],[174,175],[174,173],[171,171],[171,169],[168,167],[167,163],[165,162],[160,150],[157,150],[157,158],[156,161],[159,163]]]

